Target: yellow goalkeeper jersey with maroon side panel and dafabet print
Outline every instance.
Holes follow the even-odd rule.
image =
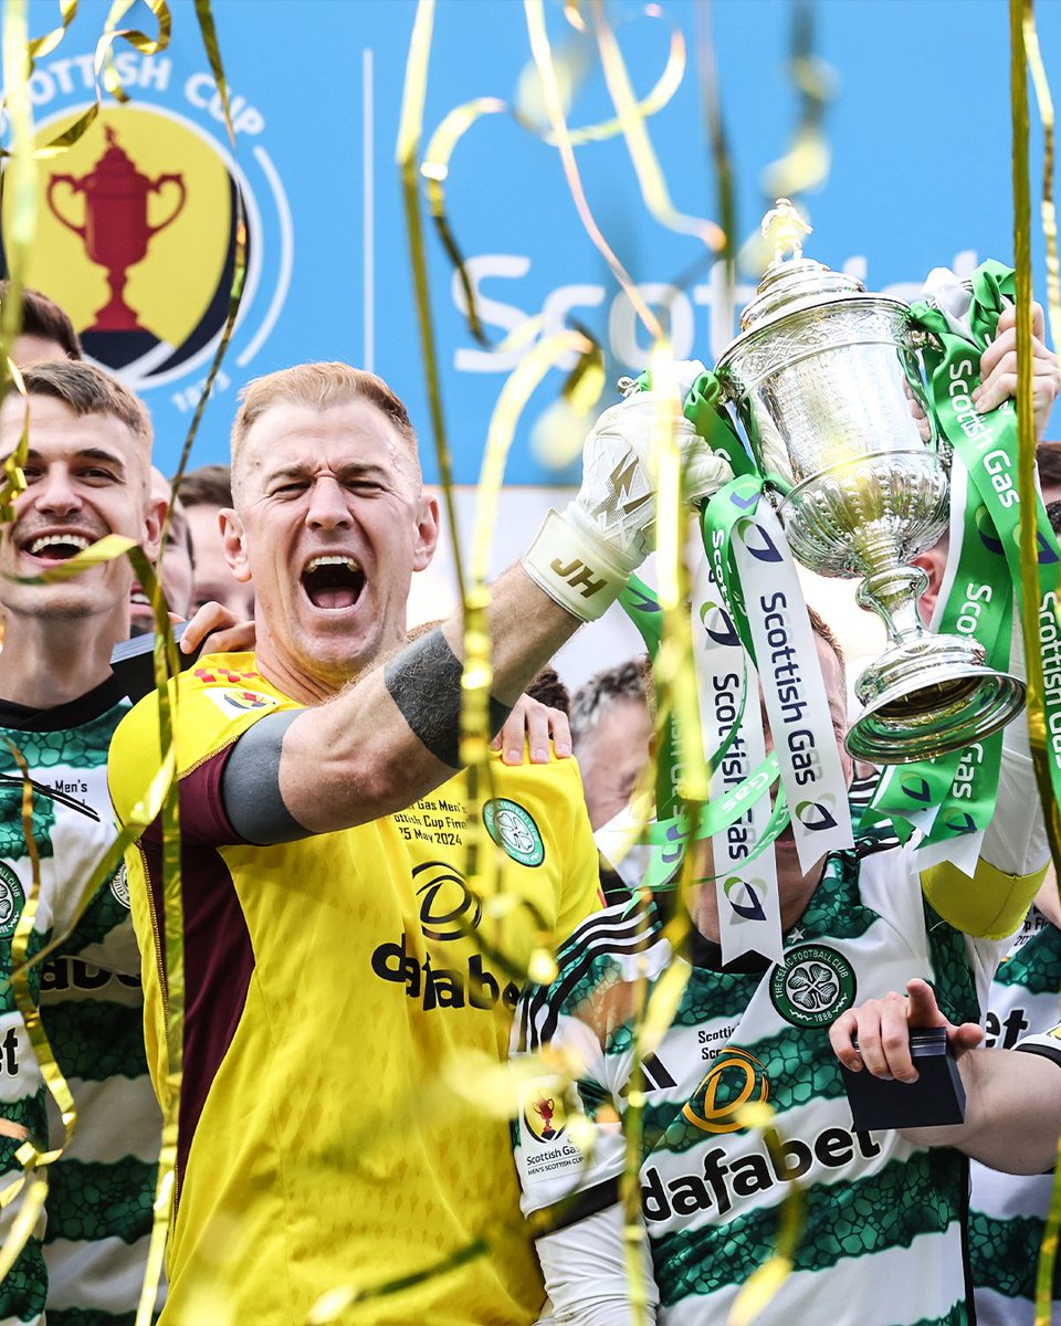
[[[224,761],[297,705],[251,654],[202,659],[178,688],[184,1049],[163,1326],[302,1326],[341,1288],[358,1296],[341,1322],[533,1322],[544,1293],[495,1075],[530,955],[597,906],[574,761],[491,760],[473,892],[464,776],[367,825],[252,846],[224,812]],[[111,747],[121,819],[159,760],[149,696]],[[160,1094],[156,825],[129,880]]]

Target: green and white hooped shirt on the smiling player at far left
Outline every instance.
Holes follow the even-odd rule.
[[[41,896],[32,952],[69,930],[82,886],[114,839],[106,757],[127,709],[114,678],[56,709],[0,701],[0,739],[21,751],[34,784]],[[0,976],[7,977],[32,874],[23,778],[7,745],[0,751]],[[48,1326],[133,1326],[162,1120],[147,1077],[123,867],[98,890],[58,955],[33,968],[32,993],[78,1122],[70,1150],[50,1167],[45,1221],[0,1285],[0,1321],[41,1321],[46,1305]],[[49,1126],[53,1144],[62,1138],[9,989],[0,996],[0,1113],[38,1143]],[[3,1187],[21,1172],[17,1146],[0,1138]],[[0,1216],[4,1233],[12,1213]]]

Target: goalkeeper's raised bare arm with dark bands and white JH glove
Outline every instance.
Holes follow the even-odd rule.
[[[690,365],[682,386],[699,371]],[[495,732],[533,675],[614,602],[647,556],[660,412],[678,438],[690,501],[729,479],[728,464],[680,414],[678,396],[641,392],[605,411],[586,440],[577,497],[564,514],[550,512],[523,562],[492,587]],[[459,765],[462,660],[456,615],[334,700],[256,723],[225,769],[224,801],[236,829],[252,842],[326,833],[406,806],[448,778]]]

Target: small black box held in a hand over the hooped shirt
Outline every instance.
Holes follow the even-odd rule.
[[[858,1049],[858,1041],[854,1045]],[[930,1128],[964,1120],[966,1089],[947,1042],[947,1028],[911,1032],[910,1057],[918,1070],[916,1082],[887,1082],[869,1069],[853,1073],[841,1063],[855,1130]]]

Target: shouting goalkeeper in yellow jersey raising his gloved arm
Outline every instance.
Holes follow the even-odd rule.
[[[578,499],[493,587],[495,731],[646,554],[660,407],[646,394],[605,416]],[[675,430],[691,496],[712,492],[728,467]],[[395,652],[438,507],[383,382],[332,363],[252,383],[232,480],[225,549],[257,644],[178,683],[184,1058],[162,1321],[302,1326],[351,1286],[373,1326],[533,1322],[544,1290],[496,1078],[523,975],[593,906],[577,772],[491,757],[492,843],[466,880],[462,623]],[[159,758],[149,699],[111,751],[122,818]],[[127,862],[162,1091],[158,826]]]

